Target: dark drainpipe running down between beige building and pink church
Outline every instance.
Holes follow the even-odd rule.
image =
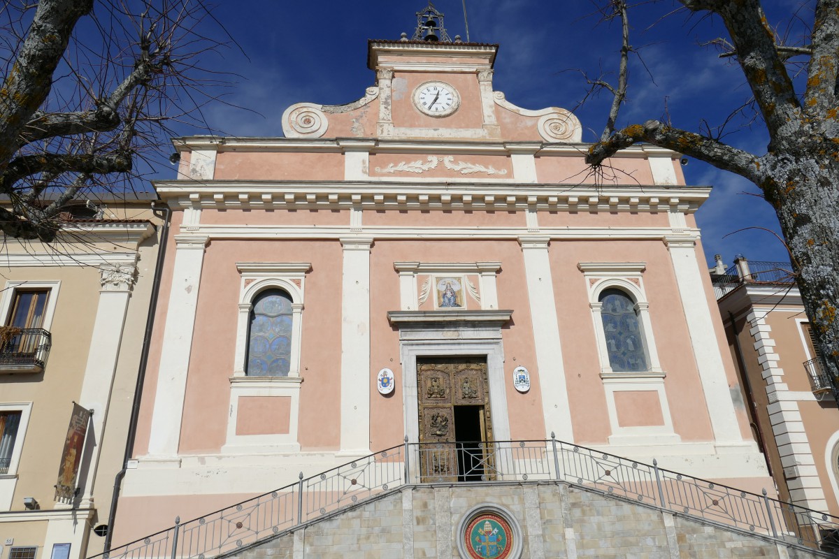
[[[160,277],[163,274],[163,261],[166,254],[166,241],[169,238],[169,218],[172,216],[172,210],[169,206],[164,205],[162,208],[155,206],[156,202],[152,202],[152,211],[162,210],[164,212],[163,226],[160,228],[160,242],[158,247],[157,265],[154,268],[154,281],[152,283],[152,293],[149,299],[149,313],[146,315],[146,331],[143,335],[143,349],[140,350],[140,365],[137,371],[137,386],[134,387],[134,401],[131,408],[131,420],[128,422],[128,437],[125,441],[125,457],[122,459],[122,469],[117,472],[117,476],[113,479],[113,494],[111,496],[111,510],[108,512],[107,520],[107,534],[105,535],[105,549],[111,549],[111,538],[113,535],[113,520],[117,515],[117,499],[119,499],[119,489],[122,486],[122,478],[125,477],[125,472],[128,469],[128,460],[131,459],[134,453],[134,437],[137,436],[137,421],[140,415],[140,399],[143,395],[143,380],[146,377],[146,365],[149,364],[149,345],[152,339],[152,329],[154,327],[154,311],[157,309],[158,294],[160,292]]]

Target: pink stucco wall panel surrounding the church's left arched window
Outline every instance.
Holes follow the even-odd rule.
[[[279,255],[282,255],[281,257]],[[213,241],[195,313],[181,453],[217,453],[225,443],[236,344],[237,262],[310,262],[300,349],[300,444],[336,448],[340,416],[341,244],[338,241]]]

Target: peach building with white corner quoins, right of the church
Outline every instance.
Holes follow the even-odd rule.
[[[839,515],[839,413],[787,262],[712,270],[728,345],[782,499]]]

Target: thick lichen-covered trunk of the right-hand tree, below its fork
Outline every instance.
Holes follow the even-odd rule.
[[[826,149],[826,144],[831,148]],[[827,370],[839,386],[839,153],[830,139],[773,147],[759,184],[773,204],[797,272],[796,283]]]

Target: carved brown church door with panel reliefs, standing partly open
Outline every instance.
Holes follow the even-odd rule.
[[[458,441],[456,436],[455,408],[469,406],[469,411],[477,413],[481,424],[477,437],[480,437],[481,442],[492,441],[487,363],[468,358],[419,361],[417,380],[420,399],[420,475],[423,481],[464,479],[464,468],[469,469],[469,466],[464,460],[464,442]],[[467,461],[479,463],[483,472],[487,465],[487,445],[466,446],[472,449],[469,451],[472,454],[481,454]]]

